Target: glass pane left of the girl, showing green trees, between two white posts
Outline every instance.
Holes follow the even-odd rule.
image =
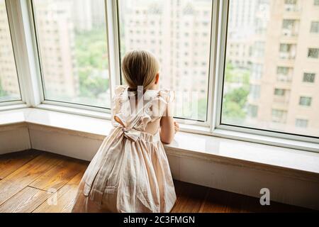
[[[103,0],[33,0],[45,99],[110,107]]]

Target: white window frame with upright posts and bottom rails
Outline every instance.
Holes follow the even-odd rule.
[[[121,84],[118,0],[104,1],[106,6],[110,99],[112,100],[115,87]],[[230,0],[212,1],[213,13],[208,74],[207,121],[179,121],[177,119],[181,123],[181,131],[319,152],[318,138],[220,123],[223,102],[225,50],[227,45],[228,6]],[[111,114],[109,109],[44,100],[31,0],[6,0],[6,6],[9,14],[13,51],[16,56],[19,56],[16,57],[16,65],[22,95],[22,101],[19,101],[18,105],[6,106],[6,109],[35,107],[110,119]]]

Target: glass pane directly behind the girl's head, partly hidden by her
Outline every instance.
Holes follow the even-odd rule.
[[[175,116],[206,121],[211,0],[120,0],[121,56],[152,52],[160,85],[177,94]]]

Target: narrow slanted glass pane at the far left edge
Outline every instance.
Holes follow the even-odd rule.
[[[6,3],[0,0],[0,102],[21,100]]]

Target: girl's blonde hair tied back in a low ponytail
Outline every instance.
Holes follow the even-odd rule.
[[[152,53],[146,50],[133,50],[123,57],[122,71],[130,90],[136,91],[142,86],[145,92],[155,81],[159,63]]]

